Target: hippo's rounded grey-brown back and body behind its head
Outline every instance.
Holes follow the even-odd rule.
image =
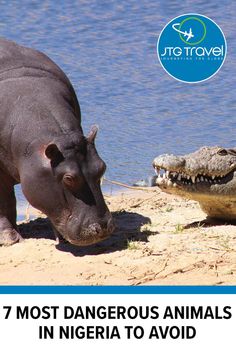
[[[81,133],[80,116],[69,79],[51,59],[0,38],[0,169],[17,179],[14,166],[29,145]]]

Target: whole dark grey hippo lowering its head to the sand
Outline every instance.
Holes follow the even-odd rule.
[[[89,245],[111,234],[100,179],[105,163],[87,138],[73,87],[46,55],[0,39],[0,244],[16,229],[14,185],[45,213],[56,237]]]

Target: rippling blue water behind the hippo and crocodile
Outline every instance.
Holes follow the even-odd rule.
[[[169,77],[156,56],[163,26],[189,12],[215,20],[228,43],[219,73],[195,85]],[[100,126],[106,177],[132,183],[153,173],[160,153],[236,146],[235,13],[235,1],[1,1],[0,35],[61,66],[77,92],[84,132]]]

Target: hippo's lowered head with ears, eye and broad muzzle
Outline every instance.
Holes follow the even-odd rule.
[[[29,202],[49,217],[57,233],[78,246],[96,243],[114,230],[100,188],[106,165],[94,145],[96,133],[93,126],[87,138],[74,132],[53,139],[36,153],[40,161],[31,177],[27,173],[21,181]]]

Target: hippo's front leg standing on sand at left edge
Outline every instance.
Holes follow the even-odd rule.
[[[8,185],[6,176],[0,173],[0,245],[9,246],[21,240],[21,235],[16,231],[14,186]]]

